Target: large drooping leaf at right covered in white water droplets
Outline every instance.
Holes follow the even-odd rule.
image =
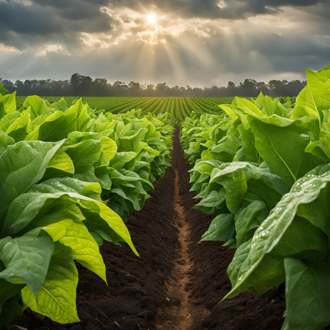
[[[321,226],[316,227],[305,218],[295,216],[299,213],[299,206],[315,201],[328,182],[329,165],[320,165],[299,179],[290,192],[282,197],[256,230],[248,254],[243,258],[239,250],[235,253],[233,266],[228,268],[233,288],[225,298],[246,290],[265,292],[284,281],[284,266],[281,260],[285,256],[314,260],[313,258],[322,256],[323,253],[324,257],[324,252],[328,250],[328,238],[318,228]],[[304,212],[300,215],[304,216]],[[314,252],[310,255],[299,252],[305,250]],[[239,269],[235,275],[233,267]]]

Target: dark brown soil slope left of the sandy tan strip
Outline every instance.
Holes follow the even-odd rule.
[[[120,247],[105,242],[100,251],[109,286],[76,264],[80,323],[62,325],[48,318],[40,320],[28,309],[13,324],[28,330],[154,329],[155,314],[165,299],[163,286],[173,268],[178,244],[178,230],[171,223],[175,213],[174,177],[174,170],[168,168],[164,178],[155,182],[155,193],[150,192],[152,198],[147,199],[143,210],[128,218],[126,225],[141,259],[125,243]]]

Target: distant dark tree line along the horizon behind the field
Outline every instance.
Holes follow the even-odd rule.
[[[307,81],[293,80],[271,80],[268,83],[257,82],[254,79],[245,79],[238,86],[234,82],[228,82],[226,87],[169,87],[165,82],[156,86],[152,84],[140,84],[130,82],[114,82],[110,84],[104,78],[93,80],[89,76],[75,73],[70,80],[2,80],[1,84],[10,93],[17,90],[17,95],[39,95],[39,96],[163,96],[163,97],[255,97],[260,90],[266,95],[297,96],[306,86]]]

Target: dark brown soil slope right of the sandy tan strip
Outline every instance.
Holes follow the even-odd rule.
[[[172,166],[180,173],[180,195],[191,228],[189,255],[194,265],[189,272],[190,281],[186,289],[190,291],[192,305],[203,306],[211,312],[196,324],[195,329],[280,330],[285,311],[284,284],[262,295],[242,292],[219,303],[231,289],[227,267],[236,249],[222,247],[224,242],[204,241],[197,244],[215,216],[191,209],[196,204],[193,199],[196,192],[189,192],[192,184],[188,183],[190,177],[187,171],[190,167],[183,159],[180,140],[176,135]]]

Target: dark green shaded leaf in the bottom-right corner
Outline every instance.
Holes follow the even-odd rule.
[[[330,264],[286,258],[286,317],[282,329],[323,329],[330,323]]]

